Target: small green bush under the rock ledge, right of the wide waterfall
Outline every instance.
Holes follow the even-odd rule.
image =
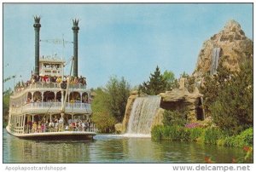
[[[186,112],[168,111],[166,110],[163,114],[164,125],[180,125],[184,126],[186,121]]]

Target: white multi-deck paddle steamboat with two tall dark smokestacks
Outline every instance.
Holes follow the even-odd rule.
[[[69,75],[64,75],[64,60],[56,55],[39,55],[40,17],[34,17],[33,27],[35,70],[30,80],[20,82],[10,96],[7,131],[33,140],[92,139],[96,132],[90,120],[90,90],[86,89],[85,77],[78,75],[79,20],[73,20]]]

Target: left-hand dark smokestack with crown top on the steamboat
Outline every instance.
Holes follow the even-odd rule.
[[[39,75],[39,41],[40,41],[40,16],[34,16],[35,28],[35,75]]]

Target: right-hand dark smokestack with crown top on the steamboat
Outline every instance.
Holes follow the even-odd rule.
[[[73,77],[78,77],[78,66],[79,66],[79,20],[73,20]]]

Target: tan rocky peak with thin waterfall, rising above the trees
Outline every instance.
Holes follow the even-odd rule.
[[[218,66],[219,61],[231,71],[238,70],[239,64],[251,57],[253,57],[253,41],[246,37],[239,23],[230,20],[222,31],[203,43],[194,76],[201,77],[207,72],[214,72],[214,67]]]

